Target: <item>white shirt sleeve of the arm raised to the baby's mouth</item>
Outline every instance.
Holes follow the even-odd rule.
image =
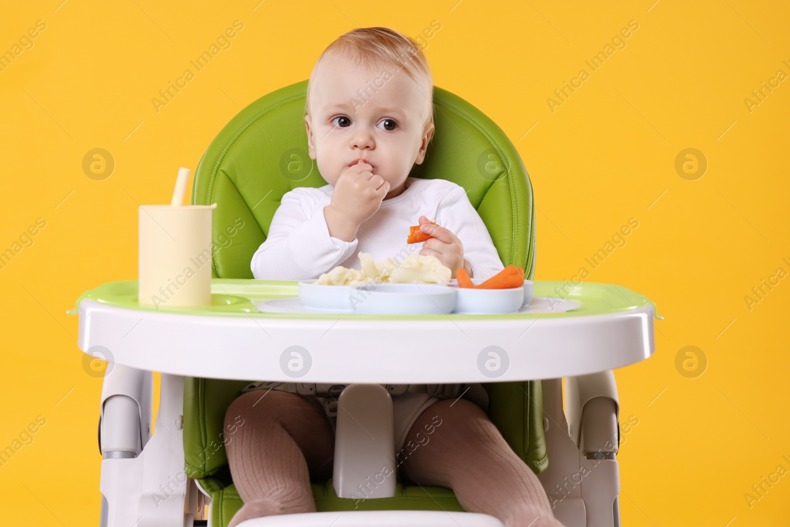
[[[324,208],[297,188],[283,195],[250,268],[257,280],[311,280],[344,262],[358,244],[329,235]]]

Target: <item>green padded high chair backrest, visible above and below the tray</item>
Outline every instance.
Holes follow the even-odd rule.
[[[307,81],[269,93],[244,108],[209,145],[195,173],[193,205],[213,212],[213,277],[253,278],[250,261],[269,232],[283,194],[326,185],[307,154]],[[505,265],[535,273],[532,183],[504,132],[472,104],[434,88],[436,133],[410,175],[447,179],[468,190]],[[416,222],[416,218],[415,218]],[[416,224],[416,223],[415,223]],[[217,350],[217,360],[223,360]],[[248,382],[186,378],[184,452],[187,475],[227,480],[224,413]],[[488,415],[534,472],[547,466],[540,381],[491,382]],[[229,482],[228,482],[229,483]]]

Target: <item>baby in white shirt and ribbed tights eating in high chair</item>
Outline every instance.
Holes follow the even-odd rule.
[[[433,236],[419,254],[438,258],[453,277],[461,268],[478,278],[504,268],[463,187],[408,177],[434,134],[433,80],[414,40],[389,28],[356,28],[331,43],[310,75],[305,125],[310,158],[329,184],[284,194],[252,258],[255,278],[308,280],[337,265],[359,269],[359,252],[402,262],[419,248],[406,243],[415,218]],[[228,527],[314,512],[310,480],[332,476],[334,423],[322,401],[285,383],[254,390],[267,386],[254,383],[226,413],[226,424],[238,416],[247,423],[226,446],[244,501]],[[537,476],[488,419],[480,385],[464,397],[423,392],[393,397],[396,451],[408,453],[399,480],[450,487],[465,510],[507,527],[562,527]],[[419,442],[429,429],[430,441]]]

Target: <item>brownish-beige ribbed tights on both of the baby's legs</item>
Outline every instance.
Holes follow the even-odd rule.
[[[320,403],[256,390],[228,408],[225,429],[234,424],[225,449],[244,506],[228,527],[261,516],[315,512],[310,479],[329,479],[334,456],[332,426]],[[419,446],[399,457],[402,480],[452,488],[465,510],[490,514],[506,527],[562,527],[535,473],[471,401],[435,402],[404,444]]]

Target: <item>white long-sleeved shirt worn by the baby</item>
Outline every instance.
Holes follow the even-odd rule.
[[[390,257],[403,262],[423,248],[423,243],[406,243],[409,227],[419,224],[419,216],[449,229],[461,240],[473,277],[490,278],[505,267],[464,187],[456,183],[409,177],[406,189],[382,201],[351,242],[329,235],[324,207],[329,205],[333,190],[332,185],[302,186],[283,195],[269,235],[250,263],[256,279],[311,280],[337,265],[361,269],[360,252],[370,253],[374,262]]]

